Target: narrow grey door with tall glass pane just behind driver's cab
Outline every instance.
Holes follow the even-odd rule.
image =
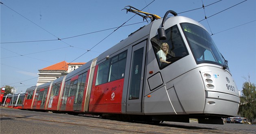
[[[126,112],[142,112],[142,90],[147,41],[132,47]]]

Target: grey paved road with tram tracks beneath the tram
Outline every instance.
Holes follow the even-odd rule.
[[[254,134],[256,132],[256,125],[246,124],[210,125],[198,124],[197,122],[163,122],[159,125],[153,125],[3,107],[0,109],[0,123],[1,134]]]

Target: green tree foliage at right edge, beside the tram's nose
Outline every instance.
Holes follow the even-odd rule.
[[[248,121],[256,119],[256,86],[254,83],[243,83],[243,91],[240,97],[241,105],[238,113],[246,117]]]

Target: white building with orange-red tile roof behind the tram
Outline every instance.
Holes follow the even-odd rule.
[[[49,67],[39,69],[39,73],[37,73],[39,75],[37,80],[37,86],[65,76],[67,75],[67,73],[74,71],[75,69],[84,64],[85,63],[67,63],[66,61],[61,61],[60,63],[56,63],[54,65],[50,65]]]

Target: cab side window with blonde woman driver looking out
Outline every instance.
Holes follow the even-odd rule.
[[[165,40],[159,40],[158,35],[150,39],[160,69],[163,69],[167,65],[170,65],[189,54],[187,48],[184,45],[184,41],[182,40],[177,25],[166,29],[165,33],[167,37]],[[166,45],[166,43],[168,45]],[[169,48],[167,47],[167,51],[164,52],[166,46],[168,46]],[[164,52],[164,56],[166,56],[165,61],[167,62],[161,61],[162,57],[159,56],[160,51]]]

